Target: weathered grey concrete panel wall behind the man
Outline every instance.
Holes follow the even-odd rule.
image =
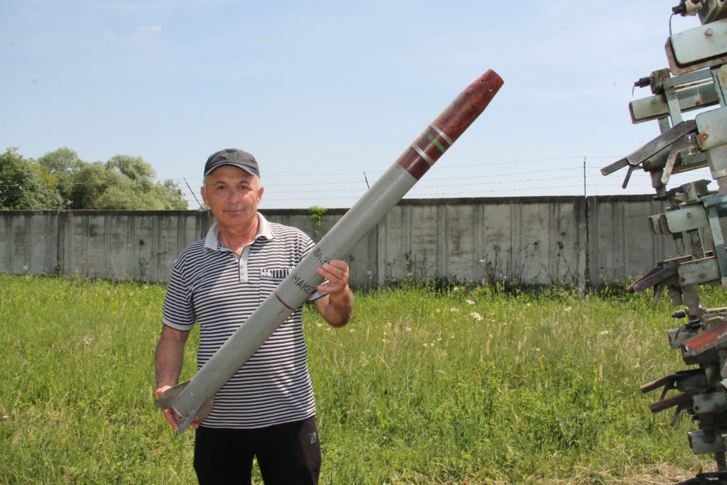
[[[651,196],[406,199],[356,246],[352,281],[623,281],[674,254],[646,223],[662,211]],[[329,209],[320,228],[306,209],[261,212],[316,239],[345,209]],[[166,281],[211,224],[199,211],[0,211],[0,271]]]

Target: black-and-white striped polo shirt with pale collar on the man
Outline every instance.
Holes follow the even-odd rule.
[[[215,223],[206,239],[187,246],[174,262],[163,321],[181,331],[199,324],[198,367],[313,248],[300,229],[257,217],[257,237],[241,256],[220,244]],[[308,301],[322,295],[314,292]],[[217,392],[204,426],[264,428],[316,414],[301,313],[297,308]]]

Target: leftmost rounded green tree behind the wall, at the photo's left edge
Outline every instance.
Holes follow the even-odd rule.
[[[63,201],[51,185],[52,177],[17,148],[0,155],[0,209],[60,209]]]

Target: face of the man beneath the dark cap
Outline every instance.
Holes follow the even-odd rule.
[[[259,178],[238,167],[223,165],[204,177],[202,199],[217,224],[246,228],[257,220],[262,191]]]

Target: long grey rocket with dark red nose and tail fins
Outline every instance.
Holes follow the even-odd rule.
[[[323,282],[318,268],[342,260],[432,167],[452,143],[484,111],[502,79],[487,71],[462,91],[425,128],[364,196],[353,204],[323,239],[300,261],[275,291],[241,324],[225,344],[194,375],[166,390],[156,406],[174,409],[182,419],[182,433],[198,417],[212,410],[214,395],[252,357],[290,314]]]

